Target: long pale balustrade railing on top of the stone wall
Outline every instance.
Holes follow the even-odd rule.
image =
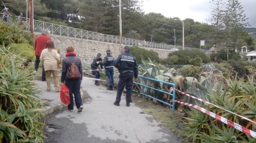
[[[3,13],[0,13],[0,16],[3,16]],[[14,18],[11,18],[14,17]],[[1,18],[3,20],[3,18]],[[23,22],[25,30],[29,30],[29,18],[20,17],[20,16],[12,16],[9,15],[7,17],[8,22],[12,22],[15,19],[17,22]],[[59,24],[34,20],[34,31],[41,32],[44,29],[49,29],[52,34],[61,35],[61,36],[68,36],[74,38],[81,38],[81,39],[88,39],[88,40],[96,40],[102,42],[111,42],[111,43],[120,43],[120,37],[108,34],[102,34],[98,32],[92,32],[82,29],[77,29],[73,27],[63,26]],[[159,48],[159,49],[170,49],[170,50],[177,50],[182,49],[182,46],[174,46],[170,44],[163,44],[163,43],[156,43],[150,42],[145,40],[138,40],[132,38],[122,37],[122,44],[123,45],[134,45],[134,46],[143,46],[143,47],[151,47],[151,48]],[[185,47],[185,49],[199,49],[193,47]],[[201,48],[202,51],[206,52],[208,49]]]

